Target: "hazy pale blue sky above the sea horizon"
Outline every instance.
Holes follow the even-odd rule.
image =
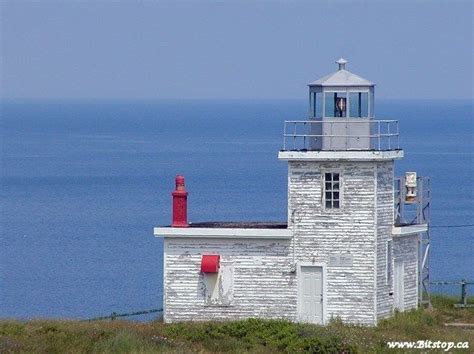
[[[473,97],[474,1],[0,1],[2,97],[305,98],[341,56],[378,97]]]

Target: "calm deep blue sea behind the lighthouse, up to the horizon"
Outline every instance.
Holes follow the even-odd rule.
[[[174,176],[189,218],[286,220],[283,121],[306,100],[5,101],[0,318],[161,307]],[[473,101],[379,100],[398,119],[397,173],[432,179],[432,225],[474,221]],[[474,278],[473,228],[433,228],[432,279]],[[458,288],[438,288],[458,292]],[[474,287],[469,289],[474,293]]]

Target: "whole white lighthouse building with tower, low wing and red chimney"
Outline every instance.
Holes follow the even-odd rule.
[[[427,218],[403,213],[427,199],[413,174],[394,178],[398,122],[374,118],[375,85],[337,63],[309,84],[309,119],[285,122],[286,222],[187,223],[177,178],[173,224],[154,231],[164,237],[165,322],[375,325],[420,303]]]

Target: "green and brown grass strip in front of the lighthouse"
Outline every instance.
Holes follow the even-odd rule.
[[[433,309],[397,313],[377,327],[295,324],[281,320],[164,324],[128,321],[0,321],[0,353],[370,353],[395,352],[386,342],[470,343],[474,309],[454,309],[455,298],[433,297]],[[419,351],[421,352],[421,351]],[[436,352],[436,351],[434,351]]]

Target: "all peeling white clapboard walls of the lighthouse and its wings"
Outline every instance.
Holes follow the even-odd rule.
[[[340,209],[322,205],[325,172],[341,174]],[[392,237],[393,174],[392,160],[289,161],[293,239],[239,239],[238,230],[231,238],[165,238],[165,321],[298,320],[298,266],[317,264],[326,275],[324,322],[341,318],[374,325],[393,311],[388,240],[392,259],[405,262],[405,308],[416,308],[417,236]],[[200,272],[203,254],[221,256],[220,275]]]

